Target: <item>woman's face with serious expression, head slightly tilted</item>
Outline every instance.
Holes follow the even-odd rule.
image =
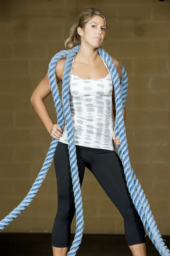
[[[88,23],[86,23],[84,29],[78,30],[81,35],[81,43],[86,42],[94,48],[101,46],[102,41],[106,35],[106,25],[103,17],[95,15]]]

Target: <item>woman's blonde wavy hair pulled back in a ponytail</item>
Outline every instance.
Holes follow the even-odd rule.
[[[85,10],[84,12],[82,12],[79,16],[78,16],[78,23],[76,23],[75,25],[73,25],[71,27],[71,29],[69,30],[69,38],[66,39],[65,43],[64,43],[64,46],[67,48],[67,45],[68,45],[68,48],[69,49],[72,49],[73,47],[81,44],[81,36],[78,34],[77,32],[77,29],[78,27],[81,27],[82,29],[84,29],[86,23],[94,16],[94,15],[98,15],[98,16],[101,16],[104,18],[105,20],[105,25],[106,25],[106,28],[108,27],[107,26],[107,23],[106,23],[106,17],[99,11],[93,9],[93,8],[90,8],[90,9],[87,9]]]

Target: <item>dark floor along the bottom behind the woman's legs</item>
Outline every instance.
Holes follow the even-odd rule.
[[[148,256],[160,255],[148,236]],[[74,235],[71,237],[71,244]],[[162,236],[170,249],[170,236]],[[124,235],[83,235],[76,256],[131,256]],[[52,256],[51,234],[0,233],[0,256]]]

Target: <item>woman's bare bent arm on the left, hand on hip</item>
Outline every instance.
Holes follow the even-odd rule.
[[[63,79],[63,66],[64,66],[65,59],[61,59],[58,61],[58,64],[56,65],[56,81],[57,84]],[[43,122],[45,125],[47,131],[52,137],[56,137],[56,135],[61,135],[60,133],[56,134],[55,130],[58,130],[62,132],[62,129],[59,129],[59,126],[57,127],[49,117],[48,111],[46,109],[46,106],[43,102],[43,100],[51,93],[51,86],[49,83],[49,75],[48,72],[46,73],[46,76],[40,81],[40,83],[37,85],[35,88],[34,92],[32,93],[31,96],[31,103],[32,106],[35,109],[35,112],[37,113],[37,116],[40,118],[40,120]],[[52,130],[54,132],[52,133]],[[56,134],[56,135],[55,135]]]

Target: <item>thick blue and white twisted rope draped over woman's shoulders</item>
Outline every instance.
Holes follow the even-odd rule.
[[[58,125],[63,129],[64,127],[64,119],[66,123],[66,130],[68,136],[68,148],[69,148],[69,160],[70,160],[70,169],[72,175],[72,185],[73,192],[75,197],[75,209],[76,209],[76,231],[75,238],[72,242],[72,246],[70,247],[68,256],[75,256],[76,252],[81,244],[82,236],[83,236],[83,226],[84,226],[84,216],[83,216],[83,207],[82,207],[82,197],[81,197],[81,186],[78,176],[78,166],[77,166],[77,156],[76,156],[76,148],[75,148],[75,137],[74,137],[74,128],[72,125],[71,111],[69,105],[69,75],[71,71],[71,63],[74,56],[78,53],[80,46],[76,46],[71,50],[63,50],[55,54],[49,63],[49,81],[51,85],[52,95],[55,102],[55,108],[57,111],[57,119]],[[117,145],[118,154],[124,166],[124,174],[127,180],[127,187],[129,189],[131,198],[133,200],[133,204],[138,211],[138,214],[141,217],[141,221],[144,224],[144,227],[147,230],[147,233],[155,245],[156,249],[162,256],[170,256],[170,250],[168,250],[167,246],[164,244],[163,239],[161,238],[161,234],[157,228],[156,222],[153,218],[152,211],[150,209],[150,205],[147,201],[146,195],[144,194],[143,189],[141,188],[138,179],[136,178],[133,169],[130,164],[129,151],[127,149],[127,138],[125,132],[125,125],[123,119],[123,110],[126,102],[127,96],[127,73],[124,70],[124,67],[121,65],[122,76],[121,76],[121,84],[120,79],[118,77],[118,73],[116,67],[114,66],[114,62],[112,61],[111,56],[104,51],[104,49],[99,48],[98,54],[106,62],[109,67],[110,73],[112,75],[112,81],[115,90],[115,108],[116,108],[116,118],[115,118],[115,137],[120,137],[120,144]],[[61,58],[66,58],[63,70],[63,85],[62,85],[62,102],[58,90],[58,85],[56,82],[55,76],[55,68],[58,61]],[[47,153],[46,159],[43,163],[43,167],[40,170],[40,173],[35,180],[35,183],[32,185],[28,195],[24,200],[7,215],[2,221],[0,221],[0,231],[3,230],[14,218],[27,207],[30,202],[35,197],[38,189],[40,188],[43,180],[46,177],[46,174],[51,166],[55,148],[58,144],[58,140],[52,139],[52,143],[50,144],[49,151]]]

